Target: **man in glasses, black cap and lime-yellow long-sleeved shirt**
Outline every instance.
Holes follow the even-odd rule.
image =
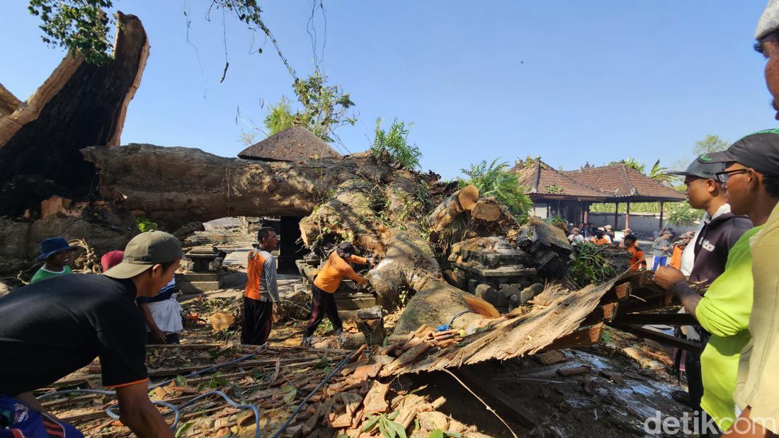
[[[731,212],[748,216],[754,227],[733,245],[724,272],[711,283],[705,295],[696,293],[682,272],[675,268],[659,268],[654,282],[679,296],[685,310],[711,334],[700,356],[703,377],[700,405],[720,429],[727,430],[738,415],[733,397],[738,361],[751,339],[753,252],[750,251],[750,239],[760,232],[777,203],[777,197],[767,190],[766,182],[770,180],[767,176],[779,173],[779,130],[747,135],[727,151],[700,156],[698,161],[702,164],[724,163],[724,170],[714,175],[725,190]],[[754,254],[754,260],[758,258]],[[775,265],[775,253],[769,258]]]

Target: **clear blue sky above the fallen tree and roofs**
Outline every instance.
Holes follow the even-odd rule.
[[[230,68],[219,83],[222,14],[203,19],[209,3],[115,0],[142,19],[151,43],[123,143],[235,156],[245,147],[241,131],[249,121],[262,126],[267,103],[294,98],[270,42],[249,54],[252,33],[230,16]],[[298,75],[311,73],[312,3],[261,4]],[[764,5],[325,0],[326,32],[321,12],[314,26],[321,69],[356,103],[358,124],[337,131],[347,149],[368,148],[376,117],[399,117],[414,122],[409,138],[424,169],[450,178],[481,159],[528,154],[565,169],[628,156],[670,166],[707,134],[735,141],[775,127],[764,61],[751,48]],[[4,5],[0,82],[22,100],[64,55],[41,42],[37,25],[23,0]],[[257,34],[254,47],[263,42]],[[236,124],[238,108],[245,121]]]

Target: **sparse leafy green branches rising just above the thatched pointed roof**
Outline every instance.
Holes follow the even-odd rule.
[[[327,76],[319,71],[308,76],[308,79],[295,79],[292,89],[301,109],[293,113],[286,97],[272,105],[264,120],[269,135],[298,125],[312,131],[325,142],[334,142],[336,128],[357,123],[357,117],[349,115],[349,109],[354,107],[349,93],[326,82]]]

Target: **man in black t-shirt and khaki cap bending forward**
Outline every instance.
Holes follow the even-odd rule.
[[[146,325],[135,300],[170,282],[181,258],[178,239],[150,231],[104,275],[62,275],[0,298],[0,401],[43,412],[32,391],[99,356],[122,422],[137,436],[173,436],[149,401]]]

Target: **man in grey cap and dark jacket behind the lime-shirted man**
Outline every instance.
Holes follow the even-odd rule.
[[[717,172],[724,170],[724,163],[709,163],[698,157],[686,170],[670,172],[684,177],[687,201],[693,208],[703,210],[700,227],[682,253],[681,272],[689,276],[689,282],[709,285],[725,270],[728,254],[746,230],[752,228],[752,221],[746,216],[731,213],[724,188],[717,181]],[[743,293],[751,290],[745,288]],[[686,338],[708,342],[710,333],[700,325],[683,328]],[[684,401],[697,412],[703,412],[700,400],[703,398],[703,377],[700,369],[700,355],[686,352],[685,373],[688,391],[675,391],[674,398]],[[686,396],[686,397],[685,397]],[[703,415],[701,415],[703,418]],[[703,420],[705,422],[705,419]]]

